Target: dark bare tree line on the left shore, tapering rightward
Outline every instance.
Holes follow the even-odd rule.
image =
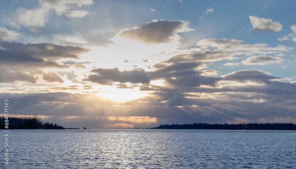
[[[4,120],[7,119],[0,117],[0,129],[5,129]],[[8,129],[64,129],[63,126],[57,125],[57,123],[43,123],[41,118],[38,118],[38,115],[25,118],[9,117],[8,120]]]

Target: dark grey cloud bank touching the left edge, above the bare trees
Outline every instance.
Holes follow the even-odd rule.
[[[36,83],[38,76],[41,77],[44,73],[42,69],[86,68],[83,62],[67,63],[65,61],[67,59],[80,59],[81,54],[90,51],[90,49],[78,46],[38,43],[26,44],[23,47],[17,53],[16,48],[20,48],[20,44],[0,41],[1,69],[7,70],[5,75],[0,76],[0,83],[17,81]],[[64,62],[59,62],[61,59]],[[1,71],[1,73],[4,72]],[[52,73],[45,74],[45,79],[50,80],[51,76],[53,76]],[[54,81],[62,82],[58,78]]]

